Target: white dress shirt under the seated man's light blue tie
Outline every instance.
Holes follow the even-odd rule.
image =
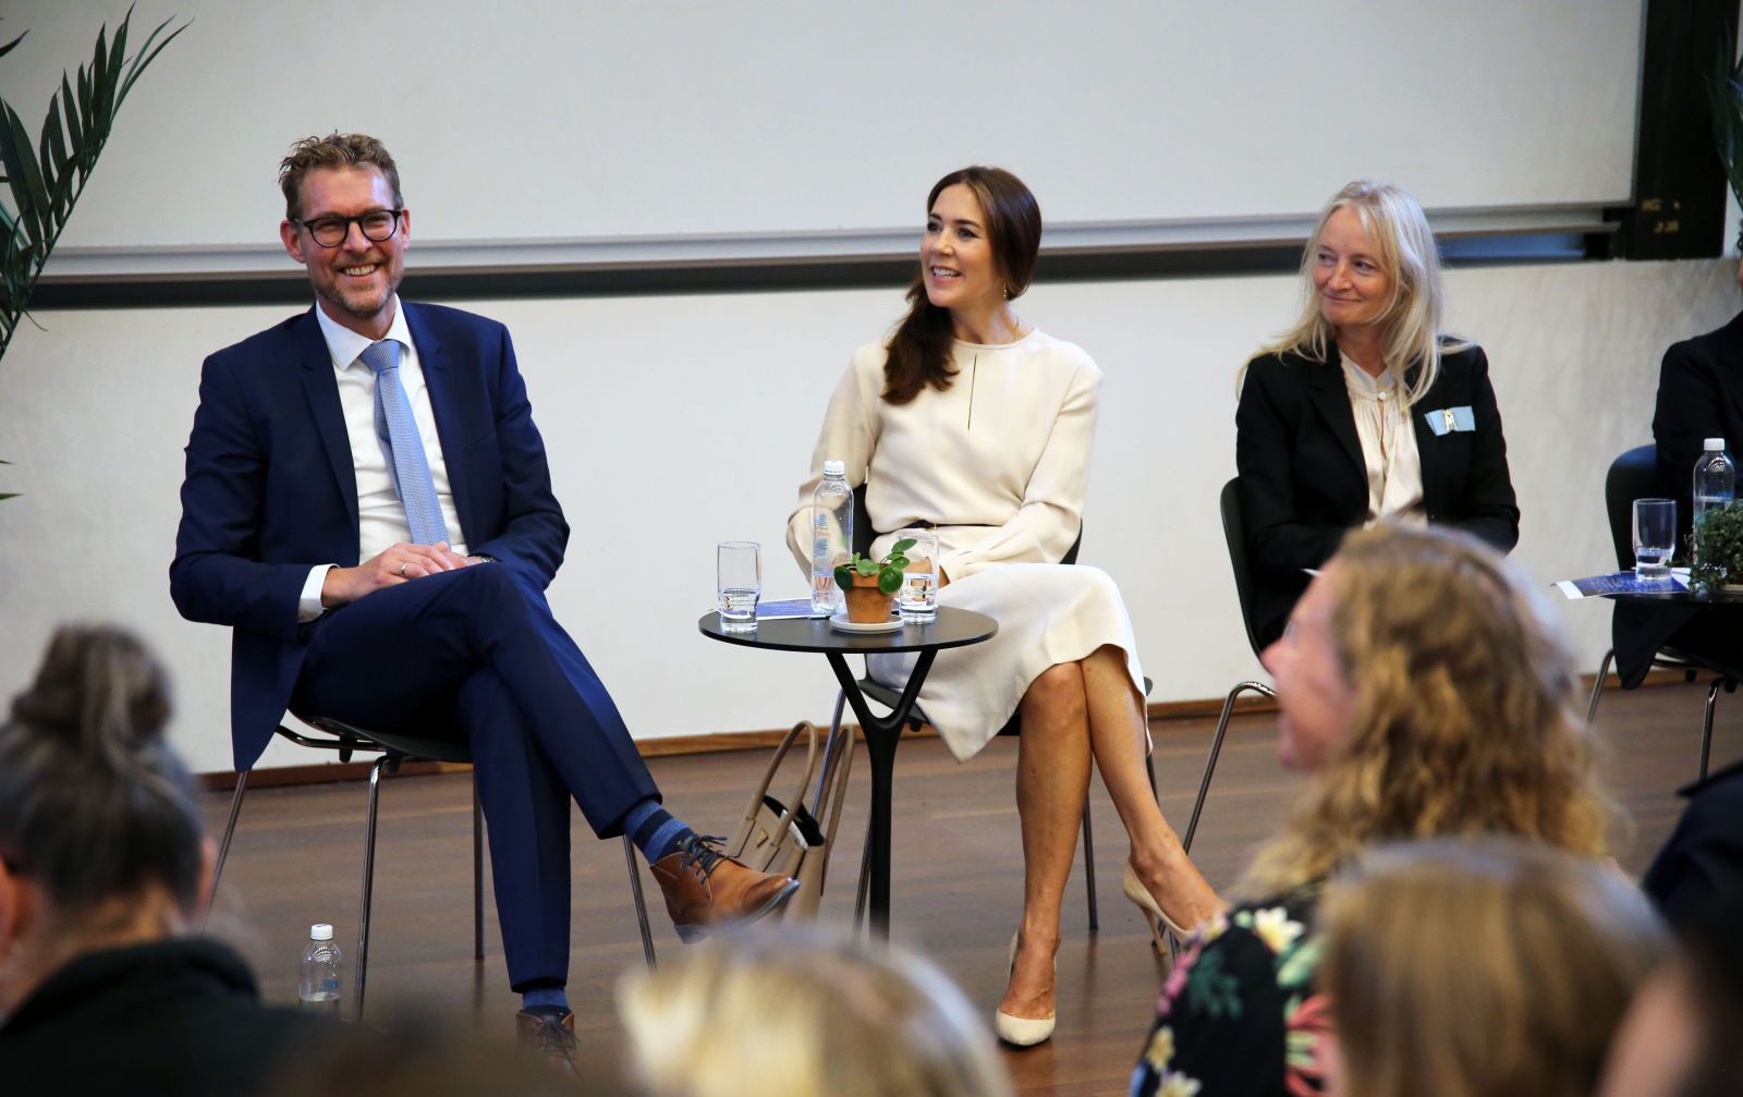
[[[345,413],[345,434],[350,439],[350,462],[357,476],[357,560],[363,562],[401,541],[411,541],[411,523],[406,521],[406,506],[394,490],[394,478],[387,471],[387,453],[375,433],[375,371],[359,361],[359,356],[375,340],[336,323],[319,303],[315,305],[315,321],[321,324],[321,337],[333,358],[338,403]],[[448,483],[448,462],[443,460],[436,415],[431,412],[429,385],[424,384],[418,349],[411,342],[406,310],[399,305],[397,295],[394,296],[394,323],[382,338],[399,344],[399,384],[406,389],[411,417],[418,424],[424,459],[431,466],[436,501],[441,504],[443,525],[448,528],[448,546],[465,556],[460,514],[453,508],[453,488]],[[321,588],[328,570],[335,567],[338,565],[317,563],[310,569],[296,607],[298,621],[314,621],[326,612],[321,607]]]

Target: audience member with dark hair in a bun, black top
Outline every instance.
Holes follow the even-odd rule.
[[[213,846],[131,635],[54,635],[0,727],[0,1080],[24,1094],[249,1094],[322,1020],[260,1005],[192,937]]]

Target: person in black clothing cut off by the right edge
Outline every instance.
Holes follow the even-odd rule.
[[[1743,263],[1738,283],[1743,284]],[[1717,331],[1672,344],[1658,373],[1652,412],[1658,492],[1677,501],[1677,556],[1684,560],[1692,544],[1694,462],[1708,438],[1724,438],[1733,453],[1743,443],[1743,312]],[[1645,680],[1652,656],[1663,647],[1743,670],[1740,621],[1733,607],[1618,602],[1611,647],[1623,689]]]

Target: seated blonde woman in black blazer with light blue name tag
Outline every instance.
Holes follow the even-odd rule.
[[[1440,330],[1440,260],[1408,192],[1358,180],[1302,255],[1295,328],[1243,368],[1241,523],[1260,644],[1351,528],[1454,525],[1509,551],[1520,513],[1482,347]]]

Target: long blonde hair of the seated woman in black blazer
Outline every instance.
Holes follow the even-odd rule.
[[[1361,218],[1361,227],[1368,230],[1379,248],[1380,269],[1393,283],[1391,296],[1387,296],[1375,323],[1386,333],[1380,340],[1386,368],[1400,378],[1400,384],[1405,382],[1410,368],[1417,366],[1415,378],[1405,389],[1405,405],[1410,406],[1422,399],[1440,377],[1441,352],[1462,351],[1469,342],[1447,337],[1440,328],[1443,303],[1440,251],[1434,246],[1434,232],[1428,227],[1422,206],[1403,187],[1356,180],[1332,195],[1332,201],[1319,211],[1319,220],[1302,251],[1300,317],[1293,328],[1264,347],[1260,354],[1300,354],[1312,361],[1328,361],[1335,335],[1332,324],[1319,312],[1319,295],[1314,291],[1312,272],[1325,223],[1339,209],[1349,209]],[[1239,387],[1239,380],[1236,380],[1236,387]]]

